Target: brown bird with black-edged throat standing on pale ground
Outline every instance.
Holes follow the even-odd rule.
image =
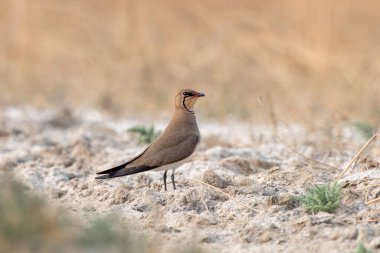
[[[203,96],[204,93],[195,90],[180,90],[175,97],[174,115],[162,134],[128,162],[96,173],[104,174],[96,179],[127,176],[149,170],[165,170],[163,178],[166,191],[166,173],[172,169],[171,180],[175,190],[175,169],[190,159],[200,142],[194,105],[198,98]]]

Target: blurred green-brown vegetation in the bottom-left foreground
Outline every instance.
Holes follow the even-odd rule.
[[[5,174],[4,174],[5,175]],[[10,175],[6,175],[7,178]],[[0,179],[0,252],[161,252],[154,240],[127,230],[114,217],[97,217],[89,225],[53,209],[24,185]],[[133,233],[132,233],[133,232]],[[160,244],[161,245],[161,244]],[[165,252],[201,253],[193,245]]]

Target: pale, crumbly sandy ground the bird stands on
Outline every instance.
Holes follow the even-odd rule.
[[[33,108],[6,108],[0,117],[0,173],[11,172],[84,221],[119,215],[163,248],[192,243],[211,252],[351,252],[363,242],[380,249],[380,224],[371,222],[380,217],[379,206],[365,204],[380,196],[376,163],[362,162],[340,180],[343,198],[335,213],[310,214],[291,199],[334,180],[365,143],[346,124],[281,126],[279,140],[269,126],[199,119],[201,147],[177,169],[178,189],[168,185],[165,192],[162,172],[94,179],[144,148],[127,129],[149,120]],[[379,161],[379,146],[367,156]]]

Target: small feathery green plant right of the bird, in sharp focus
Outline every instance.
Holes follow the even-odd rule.
[[[325,184],[314,186],[310,191],[301,196],[294,197],[311,212],[332,212],[339,207],[342,187],[339,184]]]

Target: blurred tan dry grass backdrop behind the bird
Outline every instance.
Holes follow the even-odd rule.
[[[375,0],[0,0],[0,104],[380,118]],[[297,116],[298,117],[298,116]]]

